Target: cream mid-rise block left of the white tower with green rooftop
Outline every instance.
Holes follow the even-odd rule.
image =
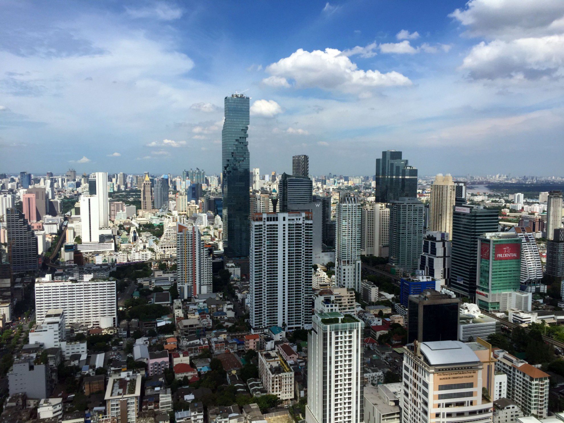
[[[278,352],[259,353],[258,373],[267,394],[283,401],[294,398],[294,372]]]

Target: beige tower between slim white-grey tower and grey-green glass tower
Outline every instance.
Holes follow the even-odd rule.
[[[390,209],[384,202],[369,202],[360,214],[360,254],[388,257]]]

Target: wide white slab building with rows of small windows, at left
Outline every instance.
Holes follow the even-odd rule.
[[[36,320],[62,309],[67,325],[109,328],[117,324],[116,281],[42,281],[35,284]]]

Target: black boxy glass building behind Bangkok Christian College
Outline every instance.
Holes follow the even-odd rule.
[[[458,298],[427,289],[408,297],[407,342],[457,341]]]

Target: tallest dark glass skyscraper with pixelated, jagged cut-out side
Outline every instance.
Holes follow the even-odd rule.
[[[248,258],[249,223],[249,98],[225,98],[222,131],[223,239],[227,258]]]

